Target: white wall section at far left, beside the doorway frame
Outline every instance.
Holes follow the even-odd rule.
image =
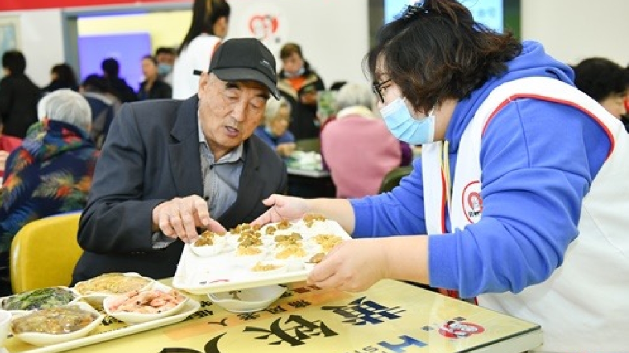
[[[26,75],[43,87],[50,81],[50,68],[64,62],[61,11],[58,9],[0,13],[19,18],[20,49],[26,57]]]

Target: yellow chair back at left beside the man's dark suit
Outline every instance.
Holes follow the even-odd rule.
[[[81,213],[62,214],[26,224],[11,243],[9,271],[13,293],[67,286],[82,254],[77,243]]]

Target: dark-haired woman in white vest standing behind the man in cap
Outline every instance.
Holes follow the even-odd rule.
[[[225,0],[194,0],[192,22],[177,50],[179,57],[172,72],[174,99],[188,99],[197,93],[199,77],[191,73],[208,69],[213,53],[227,35],[230,13]]]

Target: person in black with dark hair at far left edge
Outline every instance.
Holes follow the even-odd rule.
[[[25,75],[26,58],[18,50],[2,56],[4,77],[0,80],[0,133],[23,139],[28,127],[37,121],[41,92]]]

